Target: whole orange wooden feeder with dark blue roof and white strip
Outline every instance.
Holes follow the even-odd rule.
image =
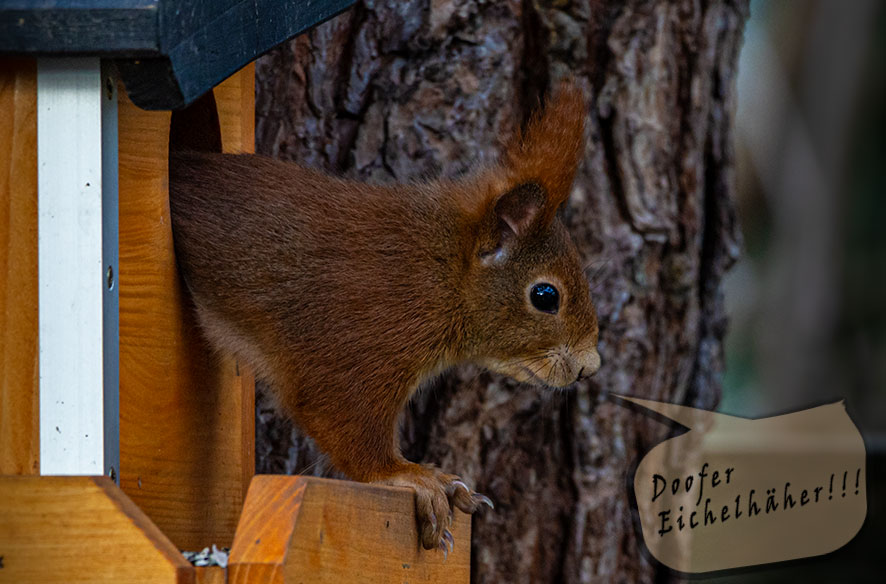
[[[352,3],[0,4],[0,582],[468,581],[460,512],[444,562],[409,490],[253,476],[176,268],[170,148],[253,152],[251,62]]]

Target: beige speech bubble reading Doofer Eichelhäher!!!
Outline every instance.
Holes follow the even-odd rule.
[[[669,568],[817,556],[861,529],[865,448],[843,401],[752,420],[616,397],[689,428],[653,448],[634,475],[643,539]]]

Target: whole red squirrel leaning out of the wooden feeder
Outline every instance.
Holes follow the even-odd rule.
[[[171,157],[176,255],[206,337],[250,364],[339,470],[412,487],[427,549],[451,548],[453,508],[492,503],[401,455],[416,389],[462,362],[548,387],[600,366],[588,282],[557,217],[584,108],[564,83],[496,165],[425,184]]]

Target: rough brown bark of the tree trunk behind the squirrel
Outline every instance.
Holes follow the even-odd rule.
[[[747,16],[746,0],[366,0],[258,63],[257,150],[375,181],[463,173],[494,159],[558,79],[586,90],[565,219],[591,267],[601,371],[554,394],[463,368],[404,420],[408,456],[496,503],[474,520],[476,582],[662,578],[628,485],[668,428],[606,395],[719,399]],[[259,471],[324,472],[259,404]]]

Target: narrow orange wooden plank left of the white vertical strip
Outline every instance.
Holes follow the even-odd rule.
[[[37,62],[0,60],[0,474],[40,472]]]

